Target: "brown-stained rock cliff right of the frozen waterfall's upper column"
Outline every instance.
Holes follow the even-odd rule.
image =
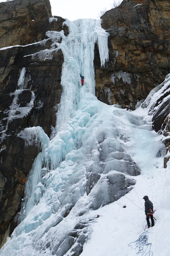
[[[109,62],[95,54],[96,94],[107,104],[134,109],[170,72],[170,3],[124,0],[102,17],[109,33]]]

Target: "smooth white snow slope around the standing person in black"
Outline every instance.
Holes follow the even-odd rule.
[[[147,175],[132,177],[137,181],[133,190],[94,212],[100,217],[93,225],[93,233],[81,256],[135,256],[138,248],[133,250],[135,245],[133,249],[128,245],[135,242],[145,228],[149,231],[148,243],[152,243],[153,256],[170,256],[170,169],[161,165],[155,168],[153,178]],[[144,195],[148,195],[156,209],[154,217],[157,220],[150,229],[145,219]],[[139,255],[145,256],[147,252]]]

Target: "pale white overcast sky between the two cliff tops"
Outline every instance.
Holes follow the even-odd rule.
[[[52,14],[69,20],[98,19],[101,10],[111,9],[114,2],[120,0],[50,0]],[[6,0],[0,0],[6,2]]]

